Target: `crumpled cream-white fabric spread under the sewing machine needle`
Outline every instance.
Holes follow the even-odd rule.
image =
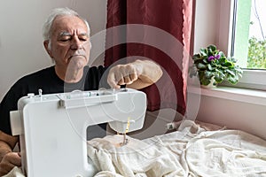
[[[266,177],[266,141],[238,130],[206,131],[184,120],[178,131],[145,140],[121,135],[88,142],[97,177]],[[22,177],[19,168],[5,177]]]

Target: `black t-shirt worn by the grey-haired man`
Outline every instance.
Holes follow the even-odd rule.
[[[73,90],[96,90],[107,86],[106,79],[102,76],[106,68],[103,66],[85,66],[82,80],[77,83],[65,83],[55,73],[54,66],[45,68],[35,73],[22,77],[4,96],[0,104],[0,130],[12,135],[10,124],[10,112],[18,110],[20,97],[28,93],[38,94],[42,89],[43,94],[63,93]],[[102,126],[105,127],[105,126]]]

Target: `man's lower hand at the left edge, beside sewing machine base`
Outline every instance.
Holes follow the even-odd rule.
[[[21,165],[21,158],[18,152],[10,152],[5,154],[0,163],[0,175],[9,173],[14,166]]]

